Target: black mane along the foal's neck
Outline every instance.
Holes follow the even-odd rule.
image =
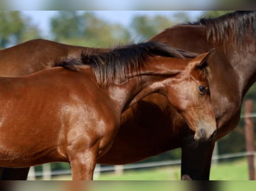
[[[96,54],[87,50],[82,52],[80,58],[70,58],[56,63],[55,66],[78,71],[81,66],[89,65],[99,85],[108,86],[117,80],[127,80],[128,73],[139,73],[154,56],[185,59],[195,58],[197,54],[172,48],[159,42],[146,42],[129,44],[110,49],[109,52]]]

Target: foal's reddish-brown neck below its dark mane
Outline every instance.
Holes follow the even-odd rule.
[[[130,106],[152,93],[164,94],[163,81],[177,75],[186,66],[183,63],[172,64],[173,58],[156,58],[157,62],[150,62],[138,73],[128,74],[128,80],[122,84],[115,84],[108,88],[110,97],[117,101],[119,109],[124,112]],[[166,62],[166,59],[169,62]],[[171,60],[169,60],[171,59]],[[152,59],[155,60],[155,59]],[[180,59],[181,60],[181,59]],[[167,65],[165,63],[168,63]],[[171,88],[171,87],[168,87]]]

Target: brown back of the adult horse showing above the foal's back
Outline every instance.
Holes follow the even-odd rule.
[[[26,76],[50,68],[67,57],[79,57],[82,51],[87,50],[97,53],[107,49],[65,45],[43,39],[30,40],[0,50],[0,76]]]

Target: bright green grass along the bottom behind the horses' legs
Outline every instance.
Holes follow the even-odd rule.
[[[128,170],[123,175],[102,173],[96,180],[179,180],[180,166]],[[246,160],[220,163],[211,168],[211,180],[248,180]],[[71,180],[71,176],[54,177],[53,180]]]

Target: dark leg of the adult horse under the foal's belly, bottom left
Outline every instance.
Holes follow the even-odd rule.
[[[29,171],[29,167],[27,168],[0,167],[0,177],[1,177],[1,180],[26,180],[28,171]]]

